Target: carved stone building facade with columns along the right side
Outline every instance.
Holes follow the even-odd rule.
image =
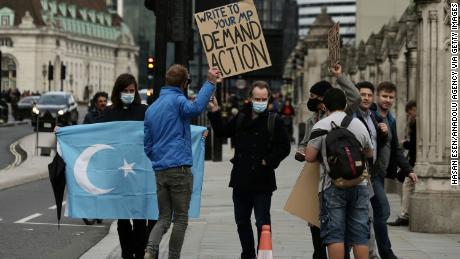
[[[377,85],[392,81],[398,87],[393,113],[399,137],[404,137],[405,104],[417,102],[417,163],[419,176],[411,196],[410,230],[460,233],[460,189],[450,185],[450,3],[455,0],[415,0],[400,19],[392,19],[367,41],[341,51],[344,72],[352,81]],[[455,1],[457,2],[457,1]],[[285,66],[293,84],[299,121],[306,110],[309,87],[327,72],[327,31],[324,12],[305,40],[299,42]],[[300,66],[299,66],[300,64]]]

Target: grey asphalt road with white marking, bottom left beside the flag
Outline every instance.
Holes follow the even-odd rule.
[[[111,221],[63,216],[58,229],[53,205],[48,179],[0,191],[0,258],[79,258],[107,235]]]

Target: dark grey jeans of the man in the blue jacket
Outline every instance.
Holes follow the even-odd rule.
[[[147,250],[158,255],[161,238],[174,218],[169,239],[169,257],[180,258],[185,230],[188,226],[188,209],[193,189],[193,175],[188,167],[177,167],[156,172],[159,217],[150,233]]]

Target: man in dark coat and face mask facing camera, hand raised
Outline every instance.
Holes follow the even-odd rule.
[[[233,188],[235,221],[238,227],[241,258],[256,258],[251,214],[254,209],[258,240],[263,225],[271,225],[270,206],[276,190],[275,169],[289,155],[291,146],[283,120],[267,111],[270,89],[265,81],[256,81],[250,90],[250,102],[238,115],[223,124],[215,97],[208,113],[211,126],[219,137],[234,137],[235,156],[229,186]]]

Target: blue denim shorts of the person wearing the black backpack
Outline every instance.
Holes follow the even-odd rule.
[[[368,245],[369,191],[365,185],[337,188],[321,194],[321,239],[324,244]]]

